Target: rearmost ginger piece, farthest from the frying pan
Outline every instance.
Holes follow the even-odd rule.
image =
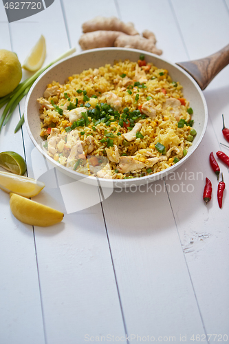
[[[135,30],[133,23],[124,23],[120,21],[120,19],[116,17],[96,17],[89,21],[86,21],[82,25],[83,33],[93,32],[97,30],[105,30],[105,31],[120,31],[124,32],[124,34],[138,34],[138,31]],[[105,45],[107,46],[107,45]]]

